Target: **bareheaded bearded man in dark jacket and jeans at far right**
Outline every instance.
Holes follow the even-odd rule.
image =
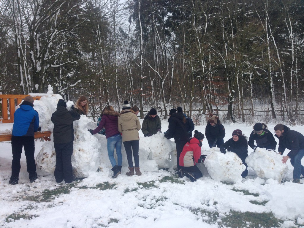
[[[283,156],[282,162],[286,163],[290,158],[290,163],[293,166],[293,181],[300,184],[301,174],[304,176],[304,167],[301,164],[302,157],[304,157],[304,136],[283,124],[275,126],[275,136],[279,139],[279,154],[284,153],[287,148],[289,153]]]

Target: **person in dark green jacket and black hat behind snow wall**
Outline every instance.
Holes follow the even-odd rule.
[[[161,133],[161,119],[157,116],[156,109],[151,109],[143,119],[141,131],[145,137],[155,135],[158,131]]]

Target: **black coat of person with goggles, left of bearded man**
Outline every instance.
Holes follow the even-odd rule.
[[[249,137],[248,145],[253,149],[255,147],[254,140],[257,143],[257,147],[275,150],[277,142],[273,134],[266,128],[263,129],[264,134],[258,135],[255,131],[252,131]]]

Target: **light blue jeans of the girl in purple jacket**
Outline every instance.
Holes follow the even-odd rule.
[[[123,162],[123,156],[121,155],[121,143],[122,137],[120,134],[116,134],[108,138],[107,149],[112,167],[116,166],[116,161],[114,158],[114,148],[116,148],[117,165],[121,166]]]

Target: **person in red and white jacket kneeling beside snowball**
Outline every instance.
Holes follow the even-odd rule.
[[[204,134],[195,130],[194,137],[188,140],[185,144],[181,155],[179,156],[179,172],[188,177],[192,182],[203,176],[202,172],[195,163],[205,161],[206,155],[201,155],[202,141],[205,138]]]

